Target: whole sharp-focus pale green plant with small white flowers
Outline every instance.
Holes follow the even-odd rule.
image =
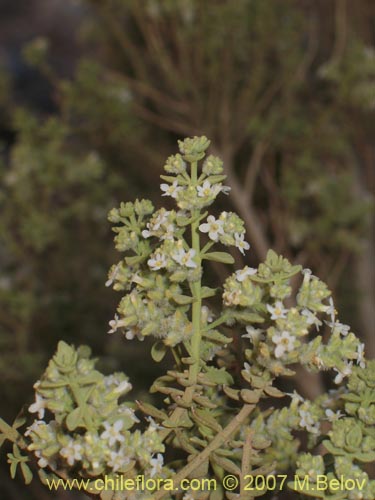
[[[106,285],[124,293],[109,333],[125,341],[154,337],[155,362],[172,353],[173,368],[150,388],[163,403],[129,401],[126,375],[105,376],[88,347],[60,342],[34,385],[28,410],[37,418],[23,432],[23,417],[12,427],[0,421],[2,440],[13,442],[11,475],[19,466],[30,482],[29,463],[36,462],[44,483],[84,478],[88,494],[105,500],[188,500],[274,494],[268,482],[249,492],[247,478],[294,471],[301,481],[287,484],[295,495],[371,500],[375,481],[364,464],[375,460],[375,362],[365,360],[364,345],[339,322],[327,286],[272,250],[222,288],[204,284],[206,262],[234,263],[231,253],[213,247],[242,254],[250,247],[235,213],[207,210],[229,193],[223,164],[206,155],[208,147],[206,137],[185,139],[168,158],[162,196],[177,209],[155,211],[150,201],[136,200],[109,214],[123,257]],[[284,392],[281,380],[297,365],[330,371],[339,387],[314,401]],[[231,492],[228,473],[238,478]],[[164,482],[131,492],[95,486],[98,478],[139,474]],[[320,475],[328,486],[317,490],[311,484]],[[329,486],[342,476],[353,481],[350,491]],[[182,490],[186,478],[212,478],[217,487]]]

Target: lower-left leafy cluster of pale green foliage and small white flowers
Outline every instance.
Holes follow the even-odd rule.
[[[29,412],[37,413],[38,420],[24,433],[39,467],[78,467],[83,477],[121,472],[129,464],[150,474],[159,473],[164,445],[155,425],[149,423],[143,433],[132,432],[139,419],[126,403],[118,402],[132,388],[127,377],[120,372],[104,376],[93,370],[94,360],[87,353],[60,344],[42,379],[34,385],[35,402]],[[72,379],[74,390],[70,389]],[[80,398],[86,398],[83,408]],[[44,420],[46,411],[54,417],[49,422]],[[83,420],[69,423],[75,413],[81,413]]]

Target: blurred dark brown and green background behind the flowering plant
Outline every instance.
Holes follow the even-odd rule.
[[[59,339],[147,390],[145,345],[106,333],[120,299],[106,217],[136,196],[161,205],[185,136],[225,162],[219,208],[252,247],[237,264],[273,248],[311,268],[374,357],[374,40],[371,0],[0,1],[3,418],[31,403]],[[1,498],[52,497],[5,461]]]

